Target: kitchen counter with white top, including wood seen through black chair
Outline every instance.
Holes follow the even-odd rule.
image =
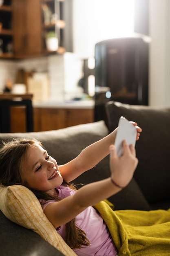
[[[11,132],[26,132],[26,109],[22,106],[22,101],[20,105],[11,108]],[[32,101],[32,105],[34,132],[57,130],[94,121],[93,100],[41,103]]]

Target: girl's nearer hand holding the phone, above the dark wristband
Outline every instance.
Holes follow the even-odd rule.
[[[114,145],[109,147],[111,178],[122,188],[128,185],[138,164],[134,146],[128,146],[126,140],[124,140],[123,147],[124,154],[121,157],[117,156]]]

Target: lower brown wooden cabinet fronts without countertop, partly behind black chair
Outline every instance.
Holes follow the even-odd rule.
[[[93,109],[33,108],[34,131],[58,130],[94,121]],[[26,132],[26,109],[11,107],[11,132]]]

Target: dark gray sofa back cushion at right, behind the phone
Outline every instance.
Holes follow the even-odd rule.
[[[135,180],[149,203],[170,200],[170,108],[133,106],[115,101],[106,103],[110,131],[119,117],[136,121],[142,128],[136,143],[139,164]]]

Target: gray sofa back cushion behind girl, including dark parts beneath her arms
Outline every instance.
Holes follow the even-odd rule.
[[[108,135],[108,128],[104,121],[91,124],[72,126],[60,130],[28,133],[0,133],[0,144],[3,140],[11,138],[36,138],[48,150],[48,153],[57,160],[57,163],[65,164],[76,157],[86,146]],[[75,184],[87,184],[102,180],[110,176],[109,156],[105,157],[92,170],[83,173],[73,181]],[[132,179],[130,184],[121,192],[113,195],[109,200],[118,209],[148,210],[149,205],[144,198],[137,182]]]

